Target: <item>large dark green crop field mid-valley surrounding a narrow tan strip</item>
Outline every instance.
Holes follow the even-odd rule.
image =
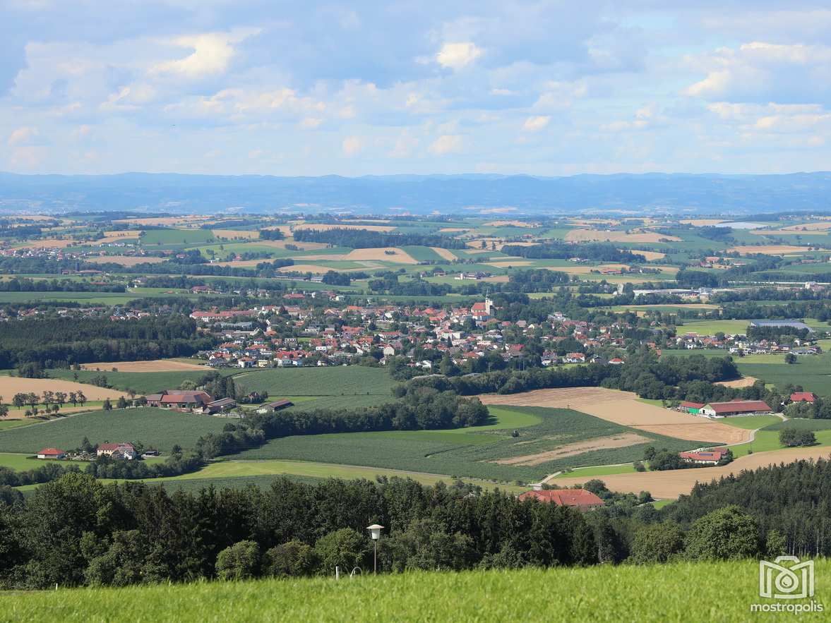
[[[238,458],[365,465],[502,482],[529,482],[563,468],[632,462],[642,458],[648,445],[660,444],[678,451],[704,445],[704,442],[627,429],[573,410],[499,407],[491,413],[496,422],[470,429],[297,435],[272,439],[261,448],[239,454]],[[538,421],[532,422],[529,418]],[[511,429],[517,429],[519,436],[510,436]],[[578,449],[562,458],[547,454],[568,444],[622,433],[639,434],[647,440],[623,448]],[[504,464],[506,459],[517,457],[527,457],[534,464]]]

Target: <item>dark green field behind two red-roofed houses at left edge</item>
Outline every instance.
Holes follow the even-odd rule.
[[[174,444],[193,448],[200,435],[219,432],[228,419],[145,407],[90,411],[43,424],[0,431],[0,452],[35,453],[42,448],[74,449],[92,444],[140,441],[169,452]]]

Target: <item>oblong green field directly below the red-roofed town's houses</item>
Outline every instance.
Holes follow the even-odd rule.
[[[273,368],[243,372],[234,377],[237,385],[265,390],[268,395],[332,396],[391,395],[396,381],[383,368],[366,365],[337,365],[316,368]],[[345,404],[343,406],[348,406]]]

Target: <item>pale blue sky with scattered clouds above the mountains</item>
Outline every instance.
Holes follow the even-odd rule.
[[[831,5],[0,0],[0,170],[831,170]]]

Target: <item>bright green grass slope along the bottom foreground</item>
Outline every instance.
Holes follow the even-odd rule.
[[[814,600],[831,603],[831,562],[815,562]],[[411,572],[303,580],[199,582],[120,589],[59,589],[2,596],[9,621],[750,621],[759,562],[676,563]],[[780,600],[807,604],[809,600]],[[775,616],[775,615],[773,615]],[[781,617],[782,615],[779,615]],[[799,621],[825,621],[804,612]]]

